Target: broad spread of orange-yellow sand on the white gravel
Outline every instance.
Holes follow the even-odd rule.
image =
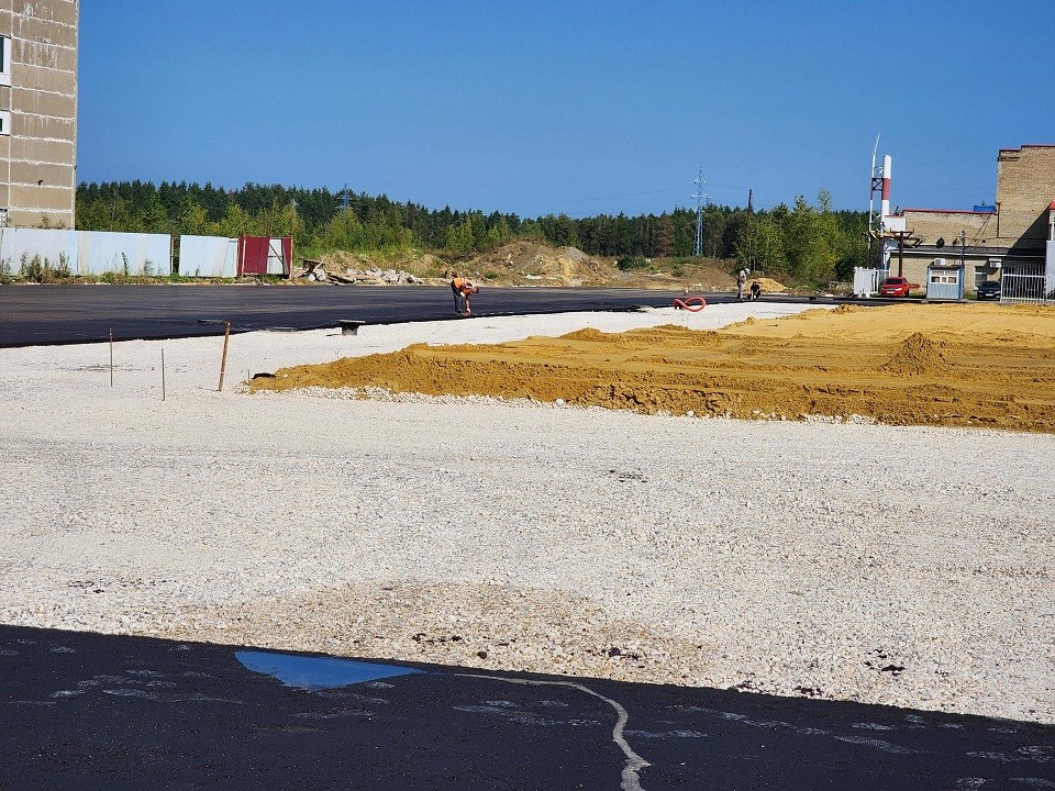
[[[254,390],[382,388],[641,413],[1055,431],[1055,310],[817,310],[713,332],[584,330],[495,345],[418,344],[285,368]]]

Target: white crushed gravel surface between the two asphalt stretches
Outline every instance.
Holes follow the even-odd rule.
[[[0,622],[1055,722],[1053,436],[232,387],[797,310],[0,350]]]

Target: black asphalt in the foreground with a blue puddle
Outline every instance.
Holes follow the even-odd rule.
[[[0,626],[0,788],[1028,791],[1055,726]]]

